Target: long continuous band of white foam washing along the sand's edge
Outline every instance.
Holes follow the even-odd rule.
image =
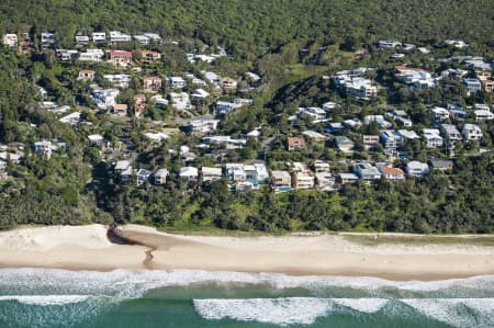
[[[341,290],[358,292],[357,297],[462,297],[474,291],[476,297],[494,294],[494,275],[438,282],[394,282],[377,278],[290,276],[277,273],[217,272],[202,270],[114,270],[111,272],[54,269],[0,269],[0,292],[37,294],[40,287],[58,294],[104,295],[116,299],[141,297],[149,290],[193,284],[261,284],[271,289],[304,289],[308,296],[346,297]],[[438,291],[440,293],[438,293]],[[336,293],[336,294],[335,294]],[[413,294],[411,294],[413,293]],[[420,293],[420,295],[415,295]],[[427,294],[427,295],[425,295]],[[440,295],[436,295],[440,294]],[[480,296],[479,296],[480,295]]]

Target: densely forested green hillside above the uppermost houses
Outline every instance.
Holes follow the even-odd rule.
[[[4,0],[0,32],[56,31],[64,45],[89,30],[155,31],[226,45],[252,58],[292,39],[358,45],[404,36],[408,42],[468,38],[492,44],[493,13],[490,0]]]

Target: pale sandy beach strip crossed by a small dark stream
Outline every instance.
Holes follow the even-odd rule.
[[[489,240],[494,236],[462,236],[452,240],[448,237],[448,242],[434,237],[424,242],[416,239],[408,242],[402,238],[408,235],[383,234],[372,235],[371,242],[359,242],[351,238],[359,236],[355,234],[210,237],[171,235],[135,225],[119,231],[142,246],[112,244],[102,225],[2,231],[0,267],[98,271],[197,269],[423,281],[494,274],[494,242],[472,242],[475,238]],[[401,239],[389,242],[385,238],[389,236]]]

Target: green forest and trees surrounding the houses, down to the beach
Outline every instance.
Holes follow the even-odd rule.
[[[171,137],[160,147],[150,147],[142,137],[151,121],[170,123],[178,128],[173,113],[149,110],[142,120],[109,121],[96,114],[88,88],[76,80],[82,64],[57,60],[54,49],[38,43],[43,32],[53,32],[57,47],[75,47],[78,33],[120,30],[128,34],[154,32],[173,44],[158,45],[164,60],[156,71],[173,72],[201,69],[188,63],[186,53],[198,48],[222,47],[228,56],[207,68],[229,76],[256,71],[262,80],[251,92],[254,102],[228,114],[218,129],[240,136],[262,126],[265,139],[252,140],[242,149],[220,159],[199,157],[194,165],[213,166],[262,159],[270,168],[301,160],[332,162],[335,172],[345,172],[343,159],[382,160],[363,145],[356,145],[351,158],[334,150],[333,144],[311,144],[299,152],[283,149],[285,136],[311,122],[290,125],[287,120],[301,105],[337,100],[344,110],[334,116],[363,116],[382,113],[388,104],[404,109],[419,122],[430,124],[426,105],[450,101],[465,106],[494,103],[492,93],[467,97],[464,86],[456,80],[446,87],[411,93],[390,75],[394,63],[390,53],[379,52],[380,39],[400,39],[434,48],[441,57],[465,55],[444,48],[447,38],[467,39],[469,52],[494,58],[494,2],[491,0],[272,0],[272,1],[176,1],[176,0],[2,0],[0,33],[29,33],[32,52],[18,54],[0,48],[0,144],[20,145],[23,160],[8,166],[9,179],[0,179],[0,229],[18,225],[80,225],[89,223],[153,225],[168,230],[242,230],[270,234],[312,230],[402,231],[419,234],[494,233],[494,124],[484,122],[482,145],[471,143],[446,151],[427,150],[420,144],[407,145],[409,157],[451,159],[452,171],[431,170],[427,177],[367,184],[358,181],[335,192],[293,190],[273,193],[268,185],[259,190],[233,191],[226,179],[203,183],[170,176],[166,185],[123,184],[110,169],[111,162],[88,144],[94,131],[105,139],[132,143],[142,168],[162,165],[177,171],[183,159],[171,151],[180,145],[199,143],[186,134]],[[180,46],[177,46],[176,43]],[[139,45],[128,44],[134,52]],[[301,53],[301,49],[304,52]],[[356,55],[357,54],[357,55]],[[360,55],[362,54],[362,55]],[[411,63],[431,71],[450,68],[423,55]],[[202,65],[202,64],[201,64]],[[373,78],[388,86],[371,102],[351,101],[324,76],[353,67],[375,67]],[[111,72],[104,64],[91,69]],[[148,67],[145,67],[147,69]],[[97,80],[100,77],[97,76]],[[100,79],[101,80],[101,79]],[[101,81],[101,83],[104,83]],[[131,90],[138,90],[138,80]],[[40,106],[37,86],[46,89],[60,104],[81,106],[90,124],[71,126]],[[131,91],[121,101],[132,104]],[[233,97],[232,97],[233,98]],[[171,120],[173,117],[173,120]],[[370,134],[375,126],[367,127]],[[322,128],[319,128],[322,131]],[[362,129],[349,129],[348,136]],[[269,137],[268,137],[269,136]],[[57,139],[66,149],[52,158],[34,154],[32,145],[42,139]],[[270,140],[271,149],[263,142]],[[333,147],[333,148],[332,148]],[[479,149],[487,149],[480,152]],[[3,150],[0,150],[3,151]],[[119,158],[115,158],[119,159]],[[396,159],[395,165],[404,165]]]

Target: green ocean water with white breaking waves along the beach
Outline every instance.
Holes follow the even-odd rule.
[[[494,327],[494,275],[436,282],[0,270],[0,327]]]

